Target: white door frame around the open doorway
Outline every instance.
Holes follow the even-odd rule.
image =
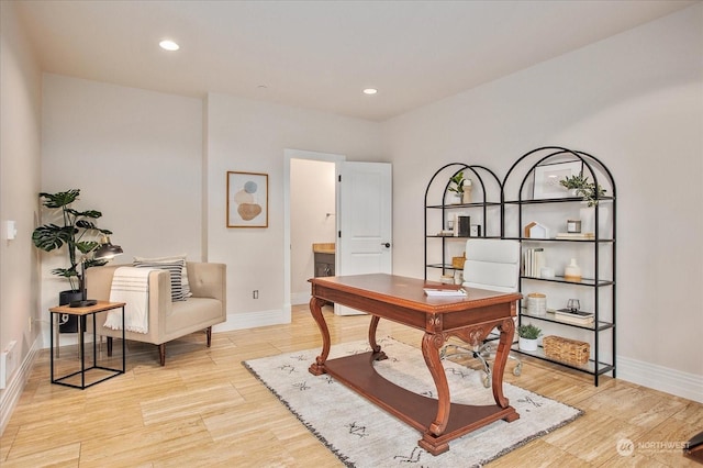
[[[290,161],[291,159],[320,160],[335,164],[335,175],[339,174],[339,164],[346,160],[345,155],[309,152],[305,149],[283,149],[283,317],[291,321],[290,301]],[[339,194],[335,183],[335,211],[339,212]],[[335,216],[337,231],[339,218]],[[336,243],[336,238],[335,238]]]

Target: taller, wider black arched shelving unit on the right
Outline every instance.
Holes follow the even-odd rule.
[[[594,192],[593,207],[561,187],[553,186],[553,192],[549,189],[539,190],[545,175],[558,175],[556,179],[559,179],[569,171],[573,174],[574,168],[595,187],[604,189],[604,193]],[[600,159],[588,153],[546,146],[521,156],[505,175],[502,188],[501,236],[518,239],[523,252],[542,248],[546,264],[556,274],[554,278],[543,278],[540,272],[526,274],[523,269],[520,278],[523,297],[531,292],[546,292],[548,299],[556,300],[553,309],[566,307],[567,298],[579,299],[583,304],[582,310],[594,315],[593,323],[565,323],[553,312],[542,316],[529,314],[524,307],[526,301],[523,300],[518,324],[534,323],[548,330],[545,334],[587,342],[591,346],[591,358],[584,365],[565,364],[546,356],[542,347],[535,353],[520,352],[516,347],[514,350],[590,374],[595,386],[599,377],[604,374],[610,372],[615,377],[616,187],[611,171]],[[590,222],[583,230],[592,233],[592,236],[587,236],[585,233],[580,238],[569,237],[569,233],[559,235],[567,231],[568,219],[582,221],[584,218]],[[550,231],[548,238],[529,237],[525,226],[542,221]],[[570,258],[577,258],[583,270],[580,281],[570,281],[561,274]]]

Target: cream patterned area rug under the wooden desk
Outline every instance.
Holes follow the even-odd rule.
[[[386,379],[432,397],[436,393],[422,352],[392,338],[380,339],[388,359],[377,361]],[[327,375],[308,371],[320,348],[243,363],[295,416],[349,467],[480,467],[527,442],[579,417],[582,412],[510,383],[503,392],[520,419],[496,421],[449,442],[449,450],[432,456],[417,446],[419,431],[384,412]],[[332,347],[330,358],[369,352],[367,342]],[[451,401],[494,404],[481,372],[444,361]]]

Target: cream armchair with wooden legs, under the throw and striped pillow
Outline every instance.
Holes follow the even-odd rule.
[[[192,261],[186,265],[192,297],[186,301],[171,302],[169,271],[149,272],[148,333],[125,332],[126,339],[157,345],[161,366],[166,364],[167,342],[204,330],[210,347],[212,325],[226,320],[225,265]],[[88,297],[109,300],[112,277],[121,266],[129,265],[109,265],[86,270]],[[98,335],[108,337],[108,353],[111,354],[112,338],[121,338],[122,331],[104,327],[105,315],[99,314],[96,325]]]

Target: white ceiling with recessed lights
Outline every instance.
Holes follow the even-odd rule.
[[[23,0],[18,7],[48,73],[381,121],[693,3]],[[181,49],[161,51],[164,37]],[[378,94],[362,94],[366,87]]]

